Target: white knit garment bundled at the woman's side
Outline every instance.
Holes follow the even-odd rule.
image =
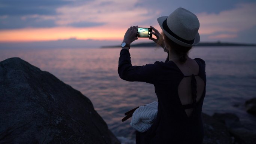
[[[158,102],[140,106],[132,114],[130,125],[139,132],[146,132],[152,126],[157,115]]]

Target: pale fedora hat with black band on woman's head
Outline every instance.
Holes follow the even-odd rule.
[[[198,18],[186,9],[180,7],[157,21],[164,34],[178,45],[191,47],[200,42]]]

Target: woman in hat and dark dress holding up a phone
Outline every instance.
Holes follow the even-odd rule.
[[[157,19],[162,34],[153,28],[158,45],[168,52],[165,62],[132,66],[129,45],[137,39],[137,26],[124,36],[118,73],[127,81],[152,83],[158,98],[158,114],[151,128],[137,132],[137,144],[202,144],[202,104],[205,96],[205,62],[188,56],[199,43],[198,18],[178,8]],[[159,39],[160,38],[160,39]]]

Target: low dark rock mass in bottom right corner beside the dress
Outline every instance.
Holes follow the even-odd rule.
[[[215,113],[213,116],[203,114],[203,119],[204,144],[255,144],[256,142],[255,125],[241,123],[235,114]]]

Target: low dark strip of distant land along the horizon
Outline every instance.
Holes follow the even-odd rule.
[[[132,47],[156,47],[155,43],[138,43],[131,45]],[[225,42],[202,42],[196,46],[256,46],[256,44],[246,43],[225,43]],[[102,46],[101,48],[119,48],[120,45],[115,46]]]

